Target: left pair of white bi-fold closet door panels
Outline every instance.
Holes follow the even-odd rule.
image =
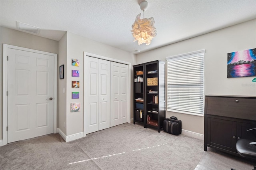
[[[110,127],[110,61],[86,56],[86,134]]]

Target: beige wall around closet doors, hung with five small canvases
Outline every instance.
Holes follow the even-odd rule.
[[[136,57],[132,53],[128,53],[121,49],[117,49],[111,47],[106,44],[102,44],[99,42],[95,42],[89,40],[88,38],[84,38],[82,36],[78,36],[76,34],[68,32],[68,45],[67,45],[67,103],[66,103],[66,111],[67,111],[67,133],[66,135],[76,134],[79,132],[83,132],[83,94],[86,93],[83,91],[84,86],[84,51],[87,53],[93,53],[96,55],[101,55],[104,57],[109,57],[113,59],[118,59],[121,61],[130,62],[131,65],[136,63]],[[80,67],[74,67],[71,65],[72,58],[78,59],[80,61]],[[72,77],[71,70],[77,69],[80,71],[80,77]],[[132,73],[132,68],[130,70]],[[131,74],[132,75],[132,74]],[[80,92],[80,99],[72,99],[71,92],[74,91],[71,87],[72,81],[80,81],[80,88],[76,91]],[[132,81],[131,81],[132,82]],[[132,99],[132,98],[131,98]],[[80,102],[81,108],[80,112],[70,112],[70,103]],[[133,117],[132,109],[131,109],[131,117]]]

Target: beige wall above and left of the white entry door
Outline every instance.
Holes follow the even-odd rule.
[[[32,34],[27,34],[24,32],[12,30],[9,28],[1,27],[1,50],[3,48],[3,44],[15,45],[19,47],[25,47],[30,49],[36,49],[40,51],[46,51],[50,53],[58,54],[58,42],[54,40],[50,40],[47,38],[42,38],[38,36],[34,36]],[[1,69],[0,69],[0,139],[2,139],[2,60],[3,60],[3,53],[1,51]]]

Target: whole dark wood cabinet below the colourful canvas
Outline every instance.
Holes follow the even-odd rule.
[[[246,130],[256,128],[256,97],[206,95],[204,151],[207,146],[238,155],[236,141],[254,139]]]

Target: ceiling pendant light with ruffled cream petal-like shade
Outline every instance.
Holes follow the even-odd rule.
[[[144,11],[148,8],[148,2],[140,2],[140,9],[143,11],[143,19],[140,19],[140,14],[136,16],[134,24],[132,24],[132,36],[134,42],[138,41],[138,45],[146,43],[149,45],[152,38],[156,36],[156,28],[154,27],[154,18],[144,18]]]

